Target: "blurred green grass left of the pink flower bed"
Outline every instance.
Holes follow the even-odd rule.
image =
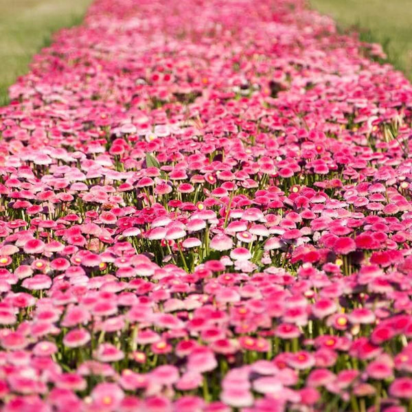
[[[32,56],[61,27],[77,25],[91,0],[0,0],[0,105]]]

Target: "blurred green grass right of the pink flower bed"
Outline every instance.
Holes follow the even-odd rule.
[[[309,0],[361,41],[380,43],[388,61],[412,80],[412,0]]]

